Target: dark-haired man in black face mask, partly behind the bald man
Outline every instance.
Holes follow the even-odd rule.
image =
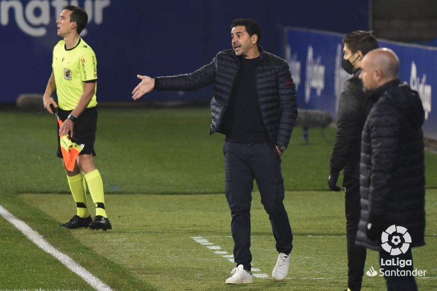
[[[378,48],[378,42],[372,32],[355,31],[343,38],[343,69],[352,74],[344,83],[338,103],[336,143],[331,155],[328,186],[332,191],[340,191],[337,180],[343,170],[345,189],[346,238],[348,251],[348,289],[361,290],[361,282],[366,261],[366,249],[355,245],[356,231],[360,218],[360,145],[371,100],[363,91],[363,83],[358,78],[361,62],[365,54]]]

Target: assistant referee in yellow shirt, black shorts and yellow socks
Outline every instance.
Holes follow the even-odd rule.
[[[50,104],[58,109],[63,121],[58,126],[58,152],[62,158],[59,137],[69,134],[76,144],[84,144],[73,171],[67,172],[68,185],[76,202],[77,213],[67,223],[67,228],[91,227],[92,229],[111,229],[105,211],[103,182],[94,165],[94,141],[97,129],[97,60],[94,51],[80,37],[88,22],[85,10],[67,6],[56,20],[57,33],[63,37],[53,49],[52,73],[44,93],[44,107],[49,113]],[[56,90],[58,104],[51,98]],[[94,220],[86,207],[86,184],[96,206]]]

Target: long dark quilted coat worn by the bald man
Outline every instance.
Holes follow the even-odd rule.
[[[357,243],[382,250],[366,236],[369,215],[383,217],[383,229],[406,227],[411,246],[424,242],[425,166],[422,102],[398,79],[378,88],[361,142],[361,218]]]

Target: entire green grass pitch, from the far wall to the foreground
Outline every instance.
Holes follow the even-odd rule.
[[[296,128],[282,159],[294,234],[287,279],[226,286],[234,264],[192,239],[202,237],[232,254],[223,136],[207,136],[209,121],[207,108],[100,109],[95,161],[114,228],[93,232],[57,226],[75,208],[55,157],[54,117],[0,111],[0,205],[114,290],[346,288],[344,192],[326,186],[335,129],[325,129],[325,137],[310,130],[305,145]],[[427,270],[426,278],[417,279],[419,290],[436,290],[437,155],[427,152],[425,159],[427,245],[413,253],[415,268]],[[256,189],[252,195],[252,264],[270,276],[277,257],[274,238]],[[0,233],[0,290],[92,290],[3,218]],[[370,251],[366,270],[378,265]],[[384,289],[383,278],[364,276],[363,291]]]

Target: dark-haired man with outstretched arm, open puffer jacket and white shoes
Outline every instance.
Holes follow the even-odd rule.
[[[233,49],[220,51],[213,61],[185,75],[142,81],[135,87],[138,99],[153,89],[196,90],[214,83],[210,134],[226,135],[226,199],[231,209],[236,267],[226,284],[252,283],[251,202],[256,180],[261,202],[269,214],[279,253],[272,278],[284,280],[293,247],[283,200],[281,155],[290,141],[297,117],[296,88],[285,60],[259,46],[261,30],[253,19],[236,19],[231,25]]]

